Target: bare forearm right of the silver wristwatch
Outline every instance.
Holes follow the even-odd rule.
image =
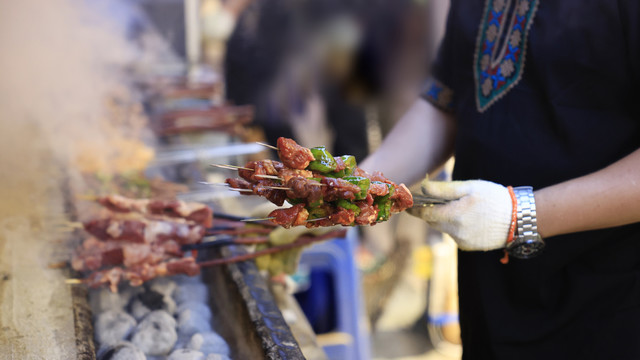
[[[535,192],[544,237],[640,222],[640,149],[595,173]]]

